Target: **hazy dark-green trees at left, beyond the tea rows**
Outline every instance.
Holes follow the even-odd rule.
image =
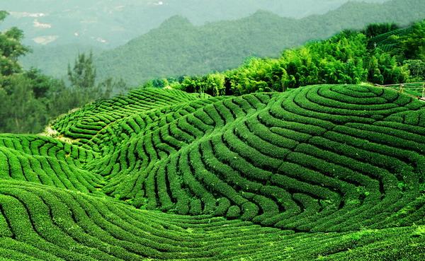
[[[0,11],[0,22],[6,16]],[[113,79],[96,84],[92,54],[79,54],[69,66],[69,83],[38,69],[23,70],[18,58],[30,50],[21,44],[22,38],[18,28],[0,33],[0,132],[41,132],[53,117],[125,87]]]

